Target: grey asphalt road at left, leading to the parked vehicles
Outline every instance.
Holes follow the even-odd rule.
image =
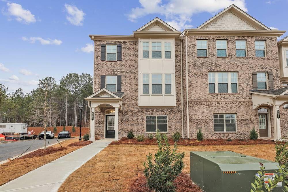
[[[66,140],[67,138],[58,139],[59,142],[62,140]],[[68,138],[71,139],[71,138]],[[15,157],[16,155],[20,155],[23,153],[32,143],[34,140],[29,141],[18,141],[18,142],[12,142],[12,143],[2,143],[0,144],[0,161],[4,161],[8,158]],[[56,138],[49,139],[49,145],[57,143]],[[35,149],[39,149],[43,147],[44,140],[36,139],[33,145],[25,152],[33,151]],[[48,141],[46,141],[46,145],[48,146]]]

